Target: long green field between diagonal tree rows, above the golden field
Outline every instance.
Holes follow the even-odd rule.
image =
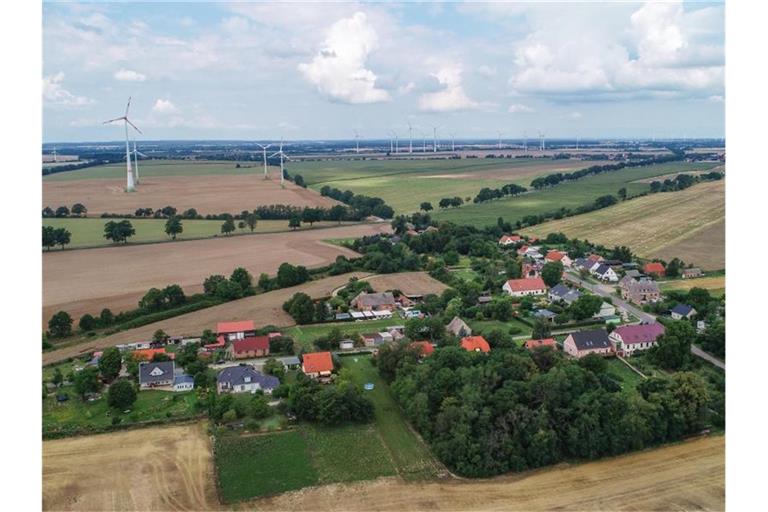
[[[671,162],[648,167],[624,169],[582,178],[570,183],[557,185],[550,189],[533,191],[514,198],[438,210],[433,212],[432,217],[440,221],[472,224],[478,227],[495,225],[499,217],[514,223],[526,215],[538,215],[557,210],[561,207],[577,208],[592,203],[602,195],[616,195],[616,192],[622,187],[626,187],[629,195],[648,190],[650,188],[648,184],[635,183],[639,179],[662,176],[671,172],[708,169],[713,167],[713,165],[711,162]],[[477,186],[477,184],[475,186],[477,187],[476,192],[479,191],[481,186]]]

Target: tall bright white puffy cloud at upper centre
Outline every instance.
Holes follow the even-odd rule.
[[[368,55],[376,48],[378,36],[365,13],[334,23],[323,48],[299,71],[317,90],[345,103],[379,103],[390,95],[376,87],[376,75],[366,69]]]

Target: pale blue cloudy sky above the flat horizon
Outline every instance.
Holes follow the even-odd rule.
[[[43,4],[43,141],[723,137],[720,3]]]

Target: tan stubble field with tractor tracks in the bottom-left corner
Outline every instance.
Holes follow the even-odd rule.
[[[43,442],[43,510],[213,510],[202,423]]]

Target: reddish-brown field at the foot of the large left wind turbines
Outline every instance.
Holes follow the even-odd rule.
[[[82,203],[90,216],[104,212],[133,213],[137,208],[173,206],[179,212],[195,208],[198,213],[239,213],[257,206],[331,207],[339,204],[317,192],[291,182],[280,187],[279,171],[272,179],[258,175],[150,176],[141,179],[136,191],[125,193],[125,178],[45,180],[43,205],[56,209]]]

